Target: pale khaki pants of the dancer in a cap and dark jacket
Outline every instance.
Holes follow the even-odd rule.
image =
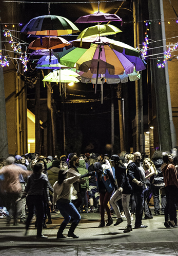
[[[117,201],[122,198],[123,209],[127,218],[127,224],[131,225],[131,214],[129,210],[130,194],[122,194],[119,190],[116,190],[110,199],[110,204],[114,209],[117,218],[121,218],[121,212],[118,207]]]

